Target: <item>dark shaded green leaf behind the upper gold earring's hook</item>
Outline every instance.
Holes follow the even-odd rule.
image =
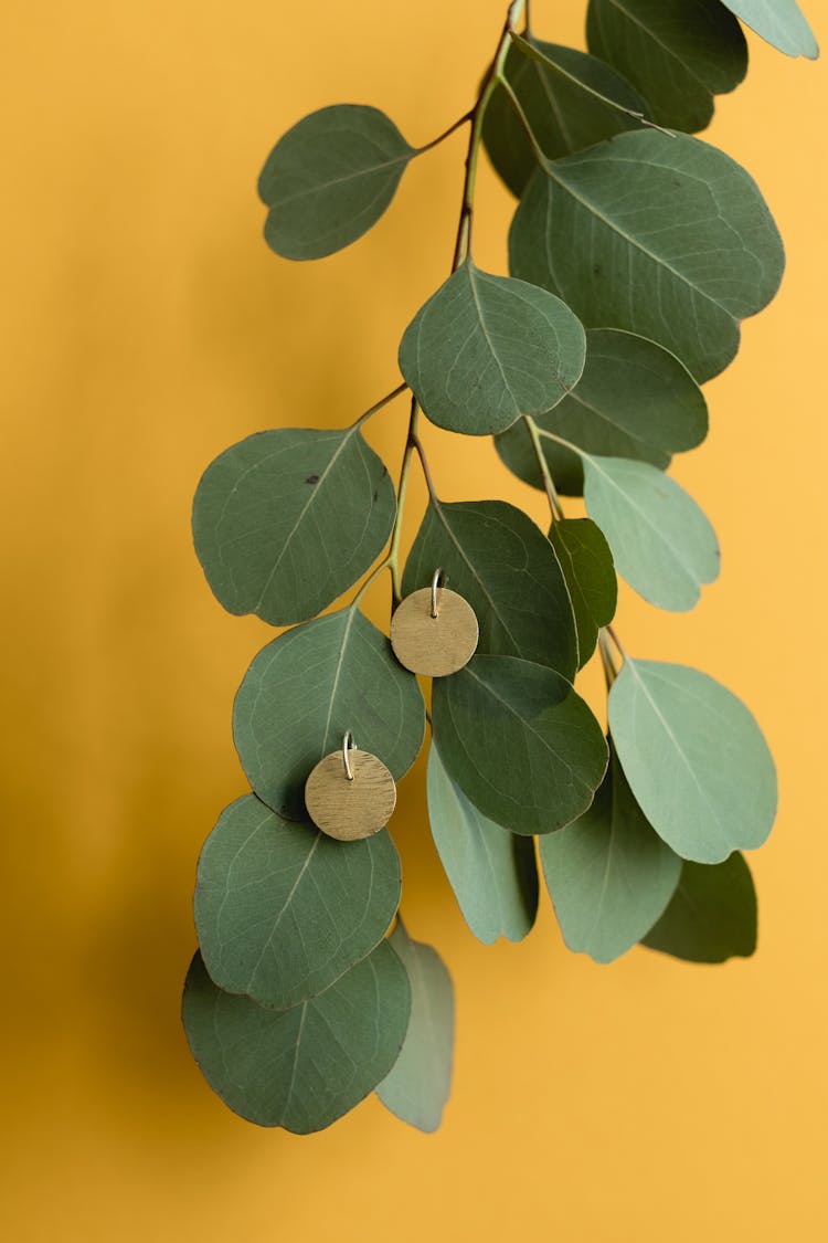
[[[504,501],[432,497],[408,554],[402,590],[428,587],[437,567],[472,605],[478,651],[577,669],[575,619],[555,549],[521,510]]]

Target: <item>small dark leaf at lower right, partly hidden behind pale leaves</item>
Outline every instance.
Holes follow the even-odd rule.
[[[713,866],[685,863],[673,901],[642,945],[688,962],[750,958],[756,915],[754,879],[737,851]]]

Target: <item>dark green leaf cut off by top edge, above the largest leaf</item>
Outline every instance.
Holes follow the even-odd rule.
[[[590,0],[590,51],[629,78],[653,119],[704,129],[714,94],[747,72],[741,26],[720,0]]]

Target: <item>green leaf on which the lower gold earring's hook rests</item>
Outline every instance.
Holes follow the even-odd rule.
[[[258,797],[303,819],[310,769],[349,730],[398,779],[422,746],[425,713],[413,674],[351,607],[287,630],[259,651],[236,696],[233,737]]]

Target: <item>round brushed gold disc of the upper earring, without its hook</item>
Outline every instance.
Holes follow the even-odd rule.
[[[457,592],[441,588],[437,617],[431,615],[432,592],[412,592],[391,619],[391,646],[412,674],[446,677],[467,665],[479,636],[474,609]]]

